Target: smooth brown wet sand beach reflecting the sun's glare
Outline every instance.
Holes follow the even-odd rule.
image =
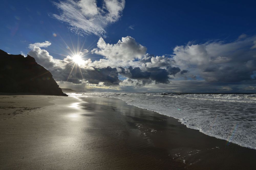
[[[256,151],[114,98],[0,96],[0,169],[254,169]],[[8,115],[9,114],[9,115]]]

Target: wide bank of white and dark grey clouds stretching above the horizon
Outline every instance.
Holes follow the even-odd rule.
[[[54,59],[45,49],[50,42],[30,44],[28,53],[62,84],[122,91],[248,92],[256,83],[256,37],[232,42],[209,41],[176,46],[169,56],[146,53],[134,38],[122,37],[116,44],[99,38],[91,54],[100,60],[82,60],[78,65],[67,56]],[[38,45],[38,46],[37,46]],[[84,49],[81,53],[89,53]],[[74,65],[76,66],[74,69]]]

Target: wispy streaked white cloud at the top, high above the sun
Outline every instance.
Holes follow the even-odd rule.
[[[53,3],[61,10],[61,14],[52,16],[68,23],[71,31],[98,36],[105,34],[105,28],[121,17],[125,6],[124,0],[104,0],[102,8],[97,7],[95,0],[67,0]]]

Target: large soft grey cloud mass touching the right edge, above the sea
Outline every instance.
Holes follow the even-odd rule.
[[[254,41],[255,37],[249,37],[230,43],[177,46],[173,59],[180,68],[207,82],[250,81],[256,69]]]

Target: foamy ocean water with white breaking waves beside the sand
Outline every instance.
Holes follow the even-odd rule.
[[[256,94],[80,93],[114,97],[174,117],[188,128],[256,150]]]

